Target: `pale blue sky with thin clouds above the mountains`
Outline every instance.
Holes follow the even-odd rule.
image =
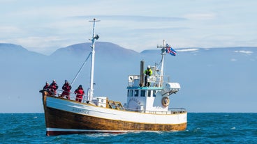
[[[135,51],[163,39],[180,47],[257,46],[255,0],[0,0],[0,42],[52,54],[90,42],[96,17],[99,41]]]

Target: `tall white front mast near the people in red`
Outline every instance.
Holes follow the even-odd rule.
[[[89,95],[88,95],[88,100],[91,101],[91,97],[93,97],[94,94],[94,42],[95,40],[98,40],[99,36],[94,32],[95,29],[95,24],[96,22],[100,22],[100,20],[96,20],[95,18],[89,22],[94,22],[93,26],[93,35],[91,38],[91,74],[90,74],[90,88],[89,88]]]

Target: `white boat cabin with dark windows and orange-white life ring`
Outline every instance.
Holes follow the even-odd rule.
[[[140,75],[129,76],[127,102],[124,107],[129,111],[143,113],[168,111],[168,105],[170,104],[168,96],[179,91],[179,83],[170,83],[169,77],[160,77],[156,66],[151,66],[152,75],[147,77],[149,86],[144,86],[143,61],[141,61],[140,67]],[[164,86],[163,83],[165,83]]]

